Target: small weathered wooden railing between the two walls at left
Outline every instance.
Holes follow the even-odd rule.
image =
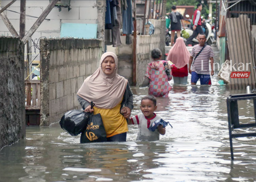
[[[41,108],[40,80],[25,80],[25,92],[26,92],[25,108],[40,109]],[[32,105],[31,105],[31,100],[32,100]]]

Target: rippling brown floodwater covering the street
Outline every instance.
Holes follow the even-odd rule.
[[[25,140],[1,150],[0,181],[256,181],[255,138],[233,139],[230,160],[226,97],[244,91],[212,83],[173,86],[169,98],[157,98],[156,113],[173,129],[167,126],[156,142],[136,141],[137,125],[129,125],[127,142],[91,144],[80,144],[80,135],[70,136],[59,123],[29,126]],[[132,91],[134,115],[147,88]],[[255,122],[252,101],[238,106],[240,122]]]

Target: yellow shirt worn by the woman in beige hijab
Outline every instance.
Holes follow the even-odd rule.
[[[100,113],[107,137],[128,131],[126,119],[120,114],[122,100],[112,109],[100,109],[94,106],[94,114]]]

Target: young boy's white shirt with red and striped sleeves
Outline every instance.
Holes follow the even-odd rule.
[[[136,116],[138,117],[139,124],[137,123]],[[147,119],[143,114],[138,114],[133,117],[131,117],[134,125],[138,124],[138,135],[137,140],[146,140],[146,141],[156,141],[159,140],[159,131],[156,129],[155,131],[151,131],[147,128]],[[150,126],[152,123],[156,120],[160,120],[161,117],[158,115],[155,115],[155,117],[150,120]]]

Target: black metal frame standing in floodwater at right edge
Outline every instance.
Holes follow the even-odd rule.
[[[247,100],[247,99],[253,99],[255,123],[240,124],[237,101]],[[229,97],[227,97],[227,111],[228,111],[230,152],[231,152],[231,159],[234,160],[232,138],[256,136],[256,132],[232,134],[232,131],[237,128],[256,127],[256,93],[229,95]]]

